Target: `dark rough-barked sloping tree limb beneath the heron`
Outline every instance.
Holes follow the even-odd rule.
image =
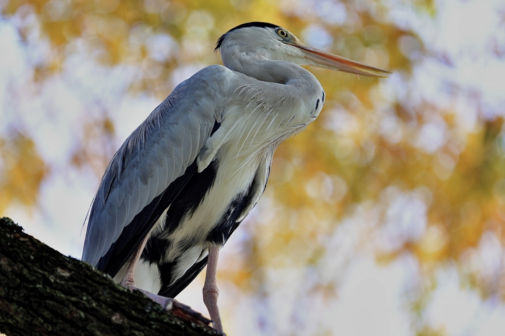
[[[0,219],[0,333],[215,335]]]

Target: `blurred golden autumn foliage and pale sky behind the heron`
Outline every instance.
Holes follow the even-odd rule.
[[[373,267],[403,270],[401,321],[370,322],[374,334],[470,334],[476,318],[458,329],[432,312],[446,279],[477,293],[477,307],[503,309],[505,6],[485,5],[477,36],[464,14],[448,20],[476,3],[2,0],[0,214],[79,257],[78,230],[124,139],[175,85],[220,62],[221,34],[272,22],[393,75],[310,68],[323,113],[277,150],[265,196],[223,249],[225,330],[344,332],[335,302],[355,260],[372,255]],[[355,304],[389,314],[366,299]]]

